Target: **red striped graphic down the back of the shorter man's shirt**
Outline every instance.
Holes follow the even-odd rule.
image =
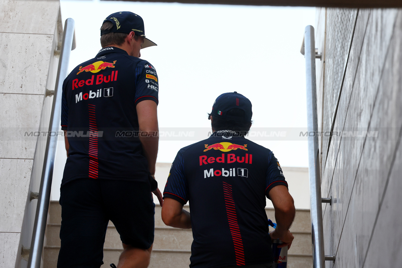
[[[232,234],[234,253],[236,256],[236,264],[239,266],[246,265],[244,261],[242,235],[240,233],[240,228],[237,223],[236,207],[234,206],[232,185],[226,182],[223,182],[223,184],[224,184],[226,214],[228,215],[229,229],[230,233]]]

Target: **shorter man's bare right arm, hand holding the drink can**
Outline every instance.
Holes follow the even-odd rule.
[[[272,188],[269,191],[269,198],[275,208],[275,220],[277,223],[275,231],[270,233],[271,238],[283,241],[284,243],[280,247],[287,245],[290,248],[293,235],[289,231],[289,228],[295,218],[293,198],[284,185]]]

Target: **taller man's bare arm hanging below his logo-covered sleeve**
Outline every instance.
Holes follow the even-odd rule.
[[[156,102],[143,100],[136,106],[140,133],[139,140],[142,143],[145,157],[148,160],[148,168],[151,174],[155,174],[156,156],[158,155],[158,115]],[[146,132],[148,135],[144,135]],[[146,136],[146,137],[144,137]]]

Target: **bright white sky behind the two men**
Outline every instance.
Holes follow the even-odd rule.
[[[219,94],[237,91],[253,105],[253,127],[306,127],[304,28],[315,8],[61,0],[62,20],[76,22],[70,71],[95,57],[100,26],[111,13],[144,19],[158,44],[141,50],[159,78],[159,127],[210,127]],[[64,22],[63,22],[64,23]],[[206,137],[205,137],[206,138]],[[250,138],[253,140],[252,138]],[[195,141],[160,141],[158,162],[173,162]],[[307,167],[307,141],[257,141],[282,166]]]

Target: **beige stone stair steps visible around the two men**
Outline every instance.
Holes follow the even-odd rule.
[[[191,229],[177,229],[164,225],[160,213],[160,205],[155,207],[155,241],[150,266],[151,268],[188,268],[191,256],[193,235]],[[189,210],[189,206],[185,206]],[[275,222],[275,211],[266,209],[267,217]],[[43,268],[55,268],[60,248],[59,231],[61,224],[61,206],[57,201],[51,201],[49,207],[49,221],[47,225],[47,243],[44,250]],[[289,250],[289,268],[312,267],[310,211],[297,209],[295,221],[291,227],[295,240]],[[109,264],[117,264],[122,245],[120,236],[109,222],[105,245],[104,263],[101,268],[109,268]]]

